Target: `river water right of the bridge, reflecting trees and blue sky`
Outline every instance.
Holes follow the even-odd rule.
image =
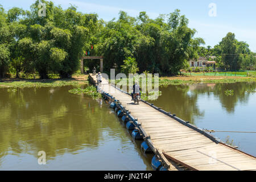
[[[162,87],[152,102],[201,129],[256,132],[256,82],[193,84]],[[233,96],[225,94],[233,90]],[[212,133],[239,150],[256,156],[256,133]]]

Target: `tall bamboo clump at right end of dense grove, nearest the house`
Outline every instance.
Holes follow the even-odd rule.
[[[189,55],[195,56],[191,44],[200,43],[199,40],[192,42],[195,32],[196,30],[188,28],[188,19],[180,15],[179,10],[169,15],[168,30],[162,33],[160,40],[164,50],[161,64],[164,72],[176,75],[186,65]]]

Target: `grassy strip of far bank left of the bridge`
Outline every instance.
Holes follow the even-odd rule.
[[[67,86],[88,83],[87,75],[73,75],[72,78],[61,79],[17,79],[6,78],[1,80],[0,88],[24,88],[24,87],[49,87],[49,86]]]

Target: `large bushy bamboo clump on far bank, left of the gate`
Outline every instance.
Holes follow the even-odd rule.
[[[19,51],[25,57],[26,67],[31,66],[27,71],[34,68],[41,78],[47,78],[49,72],[69,77],[79,68],[84,47],[97,29],[97,15],[79,13],[72,5],[63,10],[52,2],[42,2],[46,3],[46,17],[38,16],[39,1],[35,1],[31,11],[19,20],[28,32],[19,42]]]

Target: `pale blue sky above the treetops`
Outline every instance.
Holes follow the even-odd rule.
[[[97,13],[99,18],[111,20],[118,17],[119,10],[126,11],[131,16],[138,16],[140,11],[146,11],[150,18],[159,14],[168,14],[180,9],[189,19],[189,27],[197,30],[197,37],[205,40],[205,46],[214,46],[228,33],[233,32],[240,41],[250,45],[256,52],[256,1],[229,0],[53,0],[55,5],[64,9],[69,3],[76,5],[82,13]],[[8,10],[11,7],[30,9],[34,0],[0,0],[0,4]],[[209,16],[209,4],[217,6],[217,16]]]

